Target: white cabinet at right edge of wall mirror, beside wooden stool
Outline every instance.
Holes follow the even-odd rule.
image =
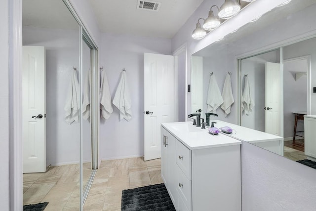
[[[308,115],[304,117],[304,153],[309,159],[316,161],[316,115]]]

